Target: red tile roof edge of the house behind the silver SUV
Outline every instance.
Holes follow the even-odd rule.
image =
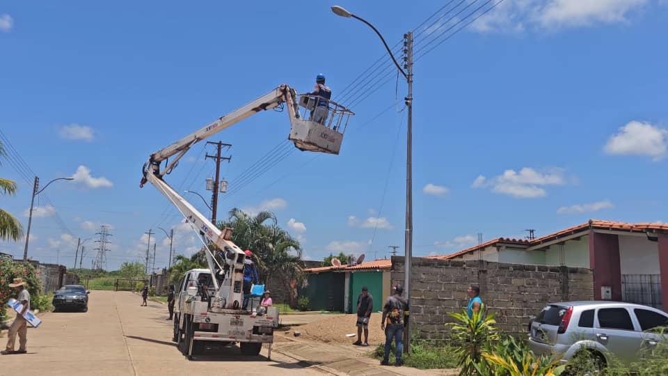
[[[661,224],[661,223],[627,224],[624,222],[590,219],[589,222],[587,222],[586,224],[580,224],[578,226],[566,228],[565,230],[560,230],[557,231],[556,233],[539,237],[534,240],[521,240],[521,239],[509,239],[507,237],[498,237],[497,239],[490,240],[489,242],[480,244],[478,246],[472,246],[468,249],[464,249],[463,251],[459,251],[457,253],[452,253],[450,255],[443,255],[443,256],[429,256],[427,258],[438,258],[442,260],[449,260],[451,258],[456,258],[457,256],[461,256],[466,253],[470,253],[472,251],[477,251],[478,249],[484,249],[488,246],[493,246],[499,243],[510,243],[510,244],[517,244],[520,246],[532,246],[534,244],[541,244],[543,242],[548,242],[550,240],[558,239],[559,237],[563,237],[565,235],[572,235],[590,229],[628,231],[630,233],[644,233],[648,230],[668,231],[668,224]]]

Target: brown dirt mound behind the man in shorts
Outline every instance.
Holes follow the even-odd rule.
[[[301,331],[301,335],[310,340],[324,343],[349,344],[357,340],[357,315],[335,315],[317,322],[293,327],[292,331]],[[292,331],[289,335],[292,335]],[[347,337],[346,334],[355,334]],[[364,336],[364,334],[362,334]],[[381,314],[374,313],[369,321],[369,347],[385,343],[385,334],[381,330]]]

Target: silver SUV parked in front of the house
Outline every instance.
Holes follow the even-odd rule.
[[[566,301],[548,304],[530,322],[529,347],[536,354],[555,355],[562,362],[581,347],[607,363],[636,360],[644,346],[660,340],[650,329],[668,325],[668,314],[639,304],[617,301]]]

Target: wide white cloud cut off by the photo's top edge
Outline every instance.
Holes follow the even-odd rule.
[[[527,28],[566,29],[595,24],[628,23],[628,16],[647,3],[649,0],[504,1],[473,22],[471,29],[479,33],[516,33]]]

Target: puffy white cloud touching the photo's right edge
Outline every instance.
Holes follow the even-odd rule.
[[[668,130],[631,121],[610,136],[603,150],[611,155],[646,155],[658,161],[668,152]]]

